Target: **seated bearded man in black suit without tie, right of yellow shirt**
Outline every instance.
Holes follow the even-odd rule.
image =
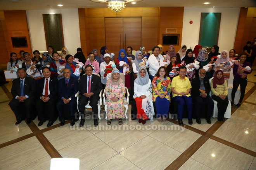
[[[203,101],[207,103],[207,111],[206,112],[206,122],[211,124],[211,116],[213,115],[213,107],[214,102],[211,99],[209,93],[211,91],[211,86],[209,83],[209,79],[205,78],[206,71],[201,68],[199,70],[199,76],[192,80],[192,90],[191,97],[195,106],[195,114],[196,114],[196,122],[201,124],[200,113]]]

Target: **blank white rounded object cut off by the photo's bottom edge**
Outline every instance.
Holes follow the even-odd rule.
[[[79,170],[80,160],[78,158],[52,158],[50,170]]]

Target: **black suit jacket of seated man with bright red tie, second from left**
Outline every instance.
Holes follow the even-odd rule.
[[[48,82],[48,88],[50,89],[50,94],[48,95],[48,97],[51,98],[56,98],[57,99],[57,95],[58,95],[58,79],[55,77],[50,77],[50,81]],[[38,97],[42,97],[43,95],[43,87],[45,85],[45,78],[41,78],[38,80],[38,86],[37,86],[37,95]]]

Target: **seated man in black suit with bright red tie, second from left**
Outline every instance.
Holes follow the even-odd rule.
[[[56,101],[58,98],[58,80],[51,77],[50,68],[42,69],[44,78],[38,80],[38,99],[36,101],[36,109],[38,112],[38,126],[49,120],[47,127],[52,126],[57,119]]]

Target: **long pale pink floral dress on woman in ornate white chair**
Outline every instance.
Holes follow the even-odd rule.
[[[119,85],[112,85],[107,81],[106,83],[106,105],[107,105],[107,120],[110,119],[124,119],[125,118],[125,83]],[[113,102],[111,98],[118,98],[117,102]]]

